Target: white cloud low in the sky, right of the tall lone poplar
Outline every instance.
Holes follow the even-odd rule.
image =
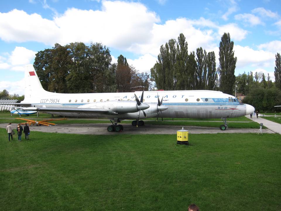
[[[253,50],[246,46],[234,45],[234,56],[237,57],[238,68],[251,65],[252,67],[271,67],[275,62],[275,54],[264,50]]]

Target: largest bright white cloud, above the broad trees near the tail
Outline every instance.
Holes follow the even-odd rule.
[[[143,4],[122,1],[102,1],[101,11],[71,8],[54,18],[60,29],[59,43],[97,41],[122,50],[134,42],[146,42],[159,21]]]

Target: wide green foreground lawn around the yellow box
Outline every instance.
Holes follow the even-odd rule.
[[[0,210],[281,210],[281,135],[0,129]]]

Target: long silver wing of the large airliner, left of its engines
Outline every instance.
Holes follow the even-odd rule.
[[[41,112],[66,112],[66,113],[107,113],[108,110],[104,108],[35,108],[28,107],[22,108],[20,110],[28,110],[28,111],[41,111]]]

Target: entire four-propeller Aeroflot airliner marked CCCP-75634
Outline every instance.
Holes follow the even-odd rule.
[[[132,119],[132,125],[138,127],[144,125],[142,119],[156,118],[158,121],[159,115],[162,121],[163,118],[221,118],[224,124],[220,125],[220,130],[226,130],[227,118],[255,111],[253,106],[240,103],[236,97],[221,91],[52,93],[43,89],[32,64],[25,66],[24,96],[20,103],[13,103],[25,107],[20,110],[64,117],[106,117],[112,123],[107,127],[108,132],[124,130],[118,124],[121,120]]]

